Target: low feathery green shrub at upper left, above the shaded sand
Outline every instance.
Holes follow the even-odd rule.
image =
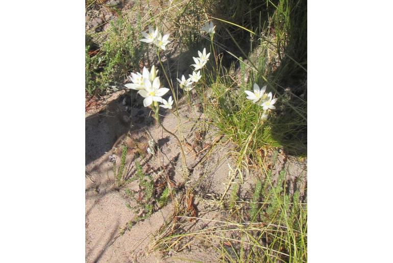
[[[144,50],[138,41],[141,24],[140,17],[137,17],[137,27],[120,15],[116,21],[110,22],[110,28],[105,32],[87,35],[89,42],[95,46],[92,51],[96,53],[89,55],[92,45],[86,45],[85,89],[89,95],[102,94],[111,86],[118,89],[118,84],[126,79],[129,70],[139,70]]]

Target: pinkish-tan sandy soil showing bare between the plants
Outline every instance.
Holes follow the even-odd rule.
[[[125,91],[116,92],[106,98],[106,106],[101,109],[86,113],[86,262],[184,262],[186,259],[202,262],[219,261],[217,252],[199,241],[191,242],[190,246],[180,253],[170,251],[164,255],[152,250],[159,230],[162,232],[162,228],[174,218],[173,203],[158,209],[148,219],[127,230],[124,235],[119,234],[120,229],[138,213],[127,208],[127,203],[132,206],[135,203],[125,197],[125,188],[135,191],[139,188],[138,181],[120,188],[115,187],[113,164],[108,157],[112,154],[118,137],[130,131],[137,140],[140,136],[146,136],[146,130],[149,131],[155,141],[158,141],[161,152],[156,156],[145,156],[146,163],[141,161],[144,163],[144,171],[157,178],[158,168],[165,167],[175,184],[184,184],[184,178],[179,172],[181,162],[177,141],[162,128],[157,128],[152,121],[153,118],[149,117],[149,109],[141,105],[141,98],[138,100],[132,91],[129,93],[132,103],[130,113],[127,112],[127,105],[122,105]],[[176,115],[169,110],[160,113],[164,115],[163,125],[169,131],[177,133],[179,125]],[[187,186],[194,187],[194,205],[198,211],[197,216],[201,218],[183,224],[183,228],[188,232],[215,224],[209,220],[225,219],[225,212],[216,209],[209,200],[219,199],[223,194],[230,193],[231,188],[227,189],[227,186],[233,179],[230,167],[234,167],[231,157],[234,145],[229,142],[219,143],[208,158],[204,159],[205,153],[195,156],[193,149],[200,150],[219,138],[213,128],[201,139],[204,143],[199,146],[200,140],[196,138],[201,136],[196,134],[202,133],[201,127],[196,125],[199,118],[203,116],[195,107],[190,108],[186,103],[180,107],[180,127],[187,144],[191,146],[190,149],[185,147],[187,165],[193,168]],[[129,177],[135,174],[133,159],[132,154],[127,156],[126,167]],[[116,162],[119,162],[119,158]],[[305,183],[299,184],[299,181],[306,181],[305,165],[295,158],[280,155],[275,164],[274,174],[277,175],[285,168],[287,187],[293,193],[298,185],[305,187]],[[251,173],[244,178],[240,198],[247,199],[252,196],[257,176]],[[238,178],[235,181],[239,183]],[[303,194],[304,189],[300,190]]]

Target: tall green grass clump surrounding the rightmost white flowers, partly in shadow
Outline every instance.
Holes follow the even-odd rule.
[[[231,54],[239,63],[239,70],[235,74],[223,66],[228,63],[224,59],[218,59],[218,65],[211,59],[213,72],[205,78],[211,88],[208,105],[204,105],[206,113],[220,131],[239,146],[241,157],[252,157],[260,149],[275,147],[306,155],[305,3],[280,0],[261,5],[253,0],[235,1],[227,10],[215,7],[212,12],[217,11],[221,20],[216,22],[221,28],[214,36],[214,48],[216,53]],[[242,12],[247,12],[247,17]],[[224,48],[223,43],[228,47]],[[267,85],[266,91],[272,91],[278,103],[267,121],[253,133],[262,109],[245,99],[244,90],[252,90],[254,83],[260,87]]]

